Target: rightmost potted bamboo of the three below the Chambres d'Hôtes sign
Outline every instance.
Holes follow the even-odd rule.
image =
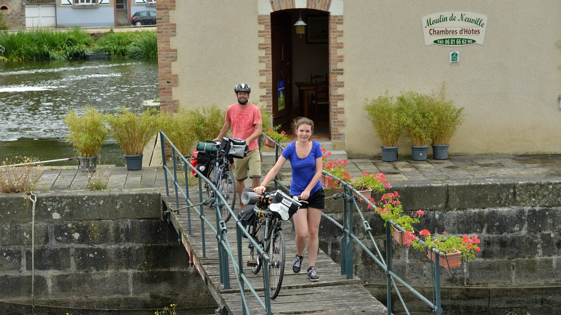
[[[450,138],[456,133],[458,126],[463,121],[463,107],[457,108],[452,100],[446,99],[444,86],[433,101],[433,114],[435,119],[431,146],[433,146],[433,159],[448,159]]]

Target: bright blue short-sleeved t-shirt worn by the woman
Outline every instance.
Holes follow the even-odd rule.
[[[296,154],[296,142],[290,143],[284,151],[282,151],[282,156],[290,161],[290,167],[292,168],[292,183],[290,184],[290,193],[295,195],[301,194],[306,187],[312,181],[315,175],[315,160],[321,158],[321,146],[319,142],[312,141],[312,149],[310,154],[304,159],[298,158]],[[316,192],[321,188],[321,181],[310,191],[310,196],[312,193]]]

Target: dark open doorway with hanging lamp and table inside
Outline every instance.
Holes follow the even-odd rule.
[[[293,26],[302,16],[306,34]],[[298,116],[312,119],[316,139],[329,140],[329,14],[317,10],[271,13],[273,124],[292,133]]]

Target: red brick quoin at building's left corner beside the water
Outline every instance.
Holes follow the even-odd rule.
[[[177,36],[176,24],[169,22],[169,11],[175,10],[175,7],[176,0],[156,2],[160,110],[164,113],[177,112],[179,106],[179,100],[174,100],[172,94],[172,88],[179,84],[178,76],[172,73],[172,62],[177,61],[177,49],[172,49],[169,44],[169,38]]]

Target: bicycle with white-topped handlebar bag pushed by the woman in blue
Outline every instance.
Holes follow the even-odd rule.
[[[257,216],[254,239],[270,258],[268,263],[269,287],[271,299],[275,299],[282,286],[284,262],[286,261],[286,245],[281,224],[282,221],[288,221],[300,209],[302,203],[307,203],[307,201],[300,200],[298,196],[292,194],[288,196],[286,193],[277,190],[265,193],[263,196],[253,192],[245,192],[242,194],[242,203],[254,205],[252,210]],[[244,209],[244,211],[246,210]],[[261,234],[259,230],[262,231]],[[259,251],[254,248],[252,243],[249,244],[249,248],[250,261],[247,262],[247,266],[251,267],[254,274],[257,274],[263,262],[259,256]]]

